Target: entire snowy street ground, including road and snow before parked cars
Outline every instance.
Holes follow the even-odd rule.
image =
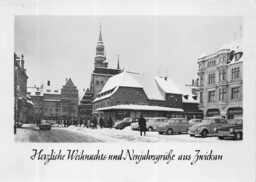
[[[25,124],[17,129],[15,142],[241,142],[232,139],[220,140],[218,137],[190,137],[187,133],[159,135],[158,132],[147,132],[146,137],[127,126],[124,130],[100,128],[97,130],[79,126],[56,126],[51,130],[39,130],[36,125]]]

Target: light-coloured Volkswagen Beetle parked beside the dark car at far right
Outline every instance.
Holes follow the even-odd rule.
[[[218,128],[224,125],[228,125],[226,119],[221,117],[208,117],[204,118],[201,123],[191,126],[188,133],[191,137],[195,137],[195,135],[201,135],[201,137],[205,138],[207,135],[214,134],[214,128]]]

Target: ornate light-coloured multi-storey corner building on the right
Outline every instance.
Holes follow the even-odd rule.
[[[243,40],[198,58],[199,109],[204,117],[243,117]]]

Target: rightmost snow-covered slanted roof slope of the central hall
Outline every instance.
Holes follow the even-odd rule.
[[[154,77],[157,84],[165,93],[175,93],[175,94],[182,94],[180,90],[176,87],[175,84],[173,84],[171,79],[164,80],[163,78]],[[164,93],[164,96],[165,96]]]

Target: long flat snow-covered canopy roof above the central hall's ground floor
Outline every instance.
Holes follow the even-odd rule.
[[[103,110],[156,110],[156,111],[177,111],[183,112],[183,109],[176,109],[171,107],[158,107],[158,106],[149,106],[149,105],[115,105],[111,107],[103,107],[96,109],[97,111]]]

